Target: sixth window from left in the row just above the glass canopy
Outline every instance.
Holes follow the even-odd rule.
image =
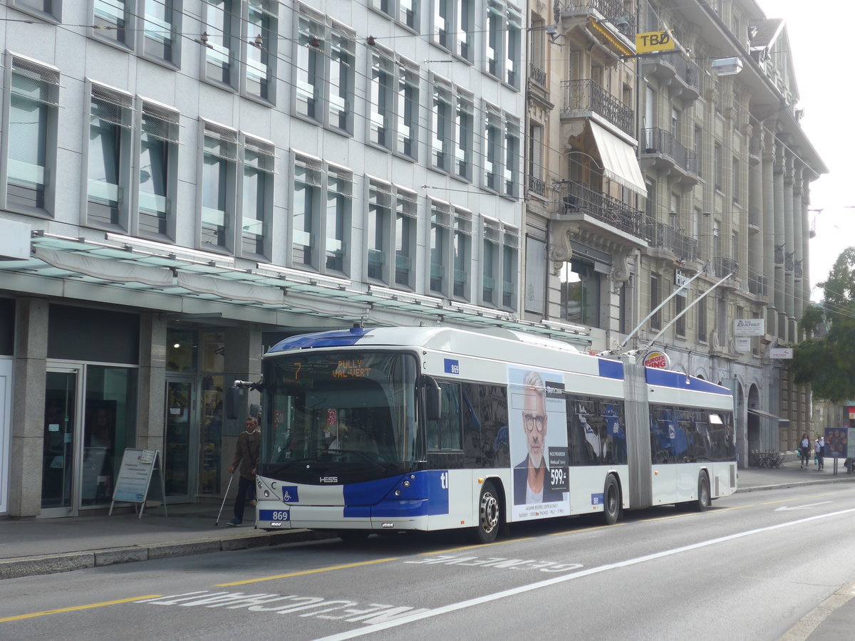
[[[317,239],[321,206],[321,162],[308,156],[294,159],[292,202],[292,263],[294,267],[317,265]]]

